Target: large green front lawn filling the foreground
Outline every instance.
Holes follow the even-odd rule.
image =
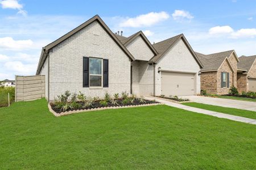
[[[182,109],[0,108],[0,169],[256,169],[256,126]]]

